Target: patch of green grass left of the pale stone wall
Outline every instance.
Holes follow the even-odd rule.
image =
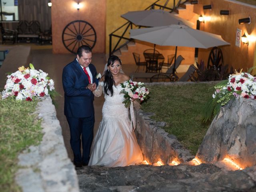
[[[28,146],[39,144],[42,128],[35,111],[37,102],[0,99],[0,189],[19,192],[14,176],[18,154]]]

